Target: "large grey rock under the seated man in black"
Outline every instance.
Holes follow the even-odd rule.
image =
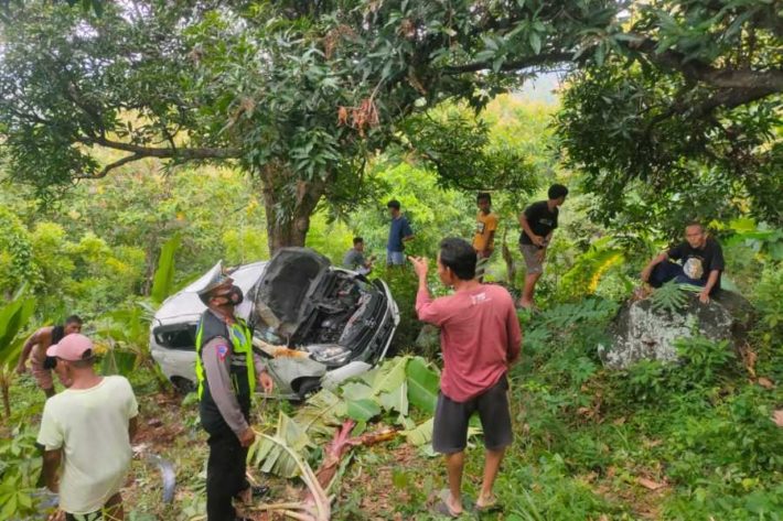
[[[709,304],[696,295],[677,313],[654,311],[650,299],[626,302],[610,327],[611,345],[598,346],[607,367],[624,369],[639,360],[676,361],[675,340],[695,335],[739,346],[750,327],[752,307],[737,293],[721,291]]]

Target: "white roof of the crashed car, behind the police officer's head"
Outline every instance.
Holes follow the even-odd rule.
[[[267,261],[253,262],[244,264],[230,273],[234,283],[242,287],[244,293],[247,293],[250,287],[261,278]],[[201,302],[195,290],[202,287],[206,282],[210,272],[206,272],[195,282],[189,284],[184,290],[171,295],[167,299],[160,308],[155,312],[155,325],[167,325],[178,322],[196,322],[206,306]],[[246,300],[237,310],[239,316],[249,315],[253,303]]]

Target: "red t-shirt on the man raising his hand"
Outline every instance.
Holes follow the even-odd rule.
[[[508,292],[495,284],[432,299],[416,296],[419,319],[441,328],[443,373],[440,390],[465,402],[497,383],[519,356],[522,332]]]

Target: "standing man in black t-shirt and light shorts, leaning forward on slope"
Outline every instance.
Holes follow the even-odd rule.
[[[554,184],[549,187],[547,200],[533,203],[519,215],[522,235],[519,236],[519,251],[525,258],[527,274],[525,275],[525,289],[522,292],[519,306],[529,310],[533,307],[533,293],[536,282],[544,273],[544,258],[547,246],[551,240],[551,235],[557,228],[558,207],[566,202],[568,188]]]

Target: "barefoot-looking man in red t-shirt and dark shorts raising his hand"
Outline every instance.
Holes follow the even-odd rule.
[[[496,503],[492,486],[505,447],[513,439],[506,372],[519,357],[522,332],[508,292],[475,280],[476,253],[466,241],[449,238],[440,243],[438,275],[443,284],[454,289],[449,296],[433,300],[427,287],[427,259],[409,259],[419,278],[419,319],[441,328],[443,372],[432,448],[446,455],[449,493],[442,495],[438,511],[459,517],[468,422],[476,411],[486,448],[476,508],[487,509]]]

